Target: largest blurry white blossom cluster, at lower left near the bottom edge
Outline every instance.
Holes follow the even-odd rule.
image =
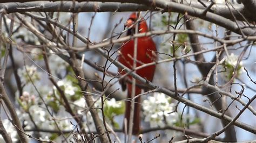
[[[44,101],[45,104],[42,104],[42,100],[38,96],[30,95],[29,92],[24,91],[23,95],[17,99],[19,105],[21,106],[20,110],[17,110],[19,119],[23,123],[25,130],[33,130],[35,128],[47,129],[52,131],[58,131],[58,128],[61,130],[72,130],[74,127],[70,124],[70,115],[65,111],[64,106],[59,105],[58,112],[52,112],[50,105],[46,110],[45,104],[48,104],[49,101]],[[56,120],[57,119],[57,120]],[[58,127],[57,127],[57,125]],[[32,135],[33,132],[29,134]],[[43,140],[55,139],[56,134],[40,132],[40,138]]]

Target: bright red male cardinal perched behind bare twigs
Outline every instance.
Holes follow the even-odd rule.
[[[131,14],[130,18],[126,21],[125,26],[130,27],[134,22],[136,22],[136,20],[137,20],[137,15],[134,12]],[[147,24],[145,20],[144,19],[140,20],[138,33],[144,33],[147,31],[149,31],[149,29],[147,28]],[[133,26],[131,29],[127,31],[127,35],[131,35],[133,33],[135,33],[135,26]],[[133,57],[133,51],[134,51],[134,39],[124,42],[123,46],[119,51],[118,61],[130,69],[132,69],[132,66],[133,66],[133,59],[131,58]],[[136,67],[139,67],[142,64],[150,63],[156,60],[156,56],[153,54],[154,51],[157,51],[157,49],[151,37],[138,38]],[[156,68],[155,65],[147,66],[137,70],[136,73],[141,77],[146,78],[148,81],[152,82],[155,68]],[[121,74],[125,74],[124,71],[122,71],[122,69],[118,69],[118,71]],[[132,77],[130,75],[128,76],[128,78],[132,80]],[[128,87],[127,98],[131,98],[132,84],[126,83],[124,81],[120,81],[120,83],[122,84],[123,90],[126,89],[126,86]],[[136,81],[136,83],[139,83],[139,81]],[[140,94],[141,92],[142,92],[142,89],[136,86],[134,96]],[[132,134],[138,135],[140,132],[140,104],[141,104],[140,97],[136,98],[134,102],[135,102],[135,105],[134,105]],[[125,118],[127,119],[128,127],[129,127],[129,119],[130,119],[130,108],[131,108],[131,102],[126,101]]]

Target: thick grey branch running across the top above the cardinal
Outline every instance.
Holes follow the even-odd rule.
[[[96,1],[96,0],[95,0]],[[74,5],[73,2],[65,1],[1,1],[3,4],[0,4],[0,12],[12,13],[12,12],[25,12],[25,11],[43,11],[43,12],[104,12],[104,11],[160,11],[167,12],[171,10],[172,12],[185,13],[187,12],[191,16],[196,16],[201,19],[205,19],[208,22],[216,23],[220,26],[228,28],[233,32],[239,33],[237,25],[235,25],[232,20],[234,17],[237,20],[248,20],[255,22],[256,17],[253,15],[253,12],[246,10],[242,5],[237,4],[233,5],[232,9],[228,10],[227,6],[224,4],[215,4],[212,6],[211,11],[208,11],[206,15],[202,15],[205,7],[199,2],[184,2],[184,4],[167,2],[167,1],[96,1],[96,2],[83,2],[77,1]],[[10,3],[16,2],[16,3]],[[26,2],[26,3],[22,3]],[[97,3],[98,2],[98,3]],[[100,3],[104,2],[104,3]],[[209,2],[204,2],[206,6],[210,5]],[[70,9],[72,8],[72,9]],[[233,13],[234,17],[230,14]],[[224,18],[225,17],[225,18]],[[232,20],[229,20],[232,19]],[[246,35],[255,35],[255,33],[250,30],[250,28],[245,28],[242,30]]]

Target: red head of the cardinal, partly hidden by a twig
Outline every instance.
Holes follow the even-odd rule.
[[[138,16],[136,12],[133,12],[130,17],[126,20],[125,27],[130,27],[130,29],[127,31],[127,35],[132,35],[135,33],[135,27],[136,25],[133,25],[138,20]],[[133,25],[133,26],[132,26]],[[132,26],[132,27],[131,27]],[[145,20],[142,18],[139,22],[139,33],[147,32],[147,24]]]

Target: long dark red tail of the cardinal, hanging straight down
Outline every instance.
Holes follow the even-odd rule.
[[[132,84],[128,84],[128,94],[127,98],[131,98],[132,94]],[[139,95],[142,92],[142,89],[136,87],[135,88],[135,96]],[[133,116],[133,127],[132,127],[132,134],[138,135],[140,132],[140,97],[134,100],[134,116]],[[127,120],[127,130],[129,128],[129,119],[130,119],[130,112],[131,112],[131,101],[126,101],[126,109],[125,109],[125,118]],[[128,131],[126,132],[128,133]]]

